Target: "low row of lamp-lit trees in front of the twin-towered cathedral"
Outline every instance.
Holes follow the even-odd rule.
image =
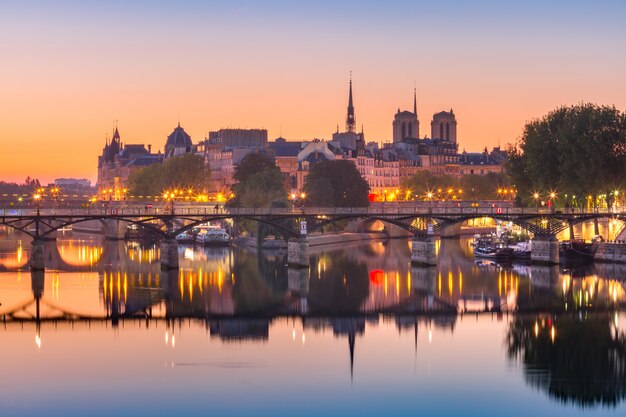
[[[417,199],[449,199],[456,196],[459,200],[494,200],[501,196],[497,190],[508,187],[510,180],[503,174],[491,172],[487,175],[463,175],[460,178],[452,175],[436,175],[430,171],[420,171],[403,181],[402,188],[410,190]],[[452,190],[452,192],[448,192]],[[459,191],[461,190],[461,191]],[[404,194],[401,193],[400,198]]]

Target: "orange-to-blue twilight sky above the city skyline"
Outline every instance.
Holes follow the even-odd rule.
[[[385,142],[417,89],[420,136],[454,110],[462,151],[580,102],[626,109],[623,1],[0,3],[0,180],[97,177],[114,126],[162,149],[227,127],[270,140],[357,125]]]

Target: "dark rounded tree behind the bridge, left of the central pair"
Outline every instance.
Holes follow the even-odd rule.
[[[286,201],[287,191],[280,169],[274,161],[258,154],[246,155],[235,168],[237,181],[230,207],[270,207],[275,201]]]

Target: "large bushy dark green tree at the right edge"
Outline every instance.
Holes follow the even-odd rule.
[[[527,202],[554,190],[609,195],[626,185],[626,115],[595,104],[556,109],[525,126],[507,171]]]

